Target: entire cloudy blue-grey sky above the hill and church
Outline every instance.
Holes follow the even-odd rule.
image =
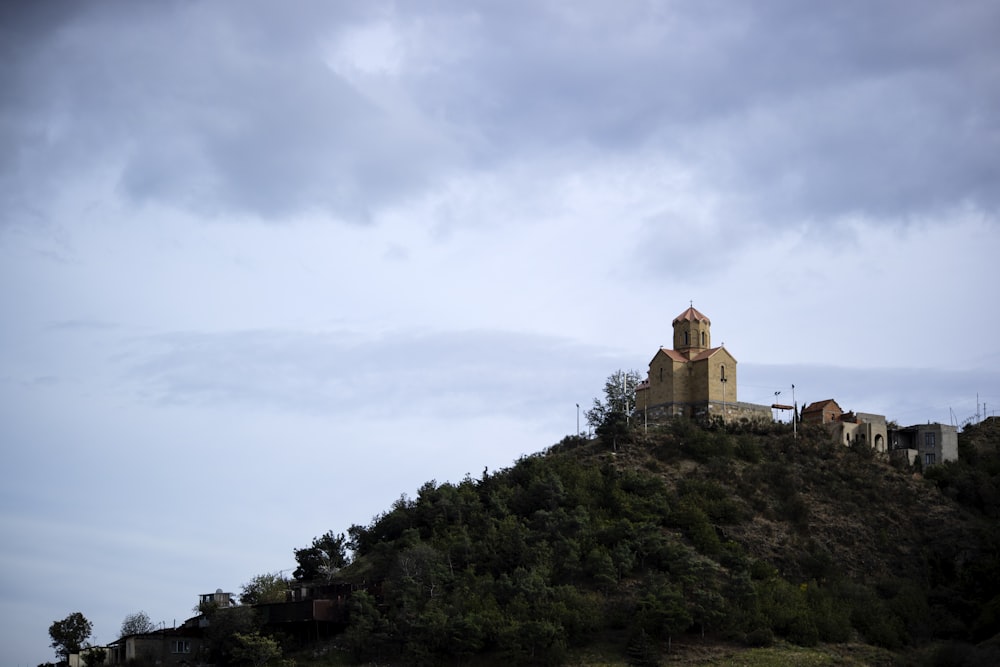
[[[691,303],[740,400],[995,414],[998,33],[992,0],[3,4],[2,664],[544,450]]]

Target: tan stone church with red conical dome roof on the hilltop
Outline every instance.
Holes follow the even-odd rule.
[[[661,347],[636,387],[635,414],[656,421],[670,417],[771,420],[766,405],[740,403],[736,358],[712,347],[712,322],[692,305],[673,321],[673,348]]]

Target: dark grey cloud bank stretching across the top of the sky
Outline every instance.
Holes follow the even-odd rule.
[[[365,220],[455,173],[634,151],[758,224],[1000,204],[987,0],[295,8],[18,16],[7,208],[103,167],[135,201]],[[325,62],[372,22],[402,49],[381,96]]]

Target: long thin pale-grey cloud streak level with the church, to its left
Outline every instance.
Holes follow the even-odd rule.
[[[599,352],[508,332],[242,331],[135,340],[119,363],[145,400],[163,404],[544,421],[554,404],[614,370]]]

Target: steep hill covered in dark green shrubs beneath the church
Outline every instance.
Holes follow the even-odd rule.
[[[339,645],[379,664],[596,651],[646,665],[775,643],[867,645],[883,664],[1000,659],[988,447],[985,467],[924,477],[818,428],[678,421],[613,442],[571,437],[428,482],[352,526],[337,579],[368,592]]]

